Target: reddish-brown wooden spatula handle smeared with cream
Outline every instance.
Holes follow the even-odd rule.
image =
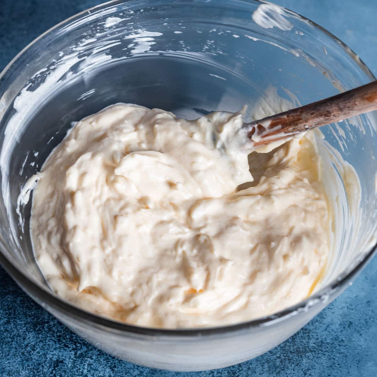
[[[245,124],[254,146],[377,109],[377,81]]]

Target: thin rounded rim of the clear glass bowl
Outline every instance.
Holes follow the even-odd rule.
[[[45,35],[58,30],[59,28],[65,26],[67,23],[73,20],[78,20],[81,17],[85,17],[85,15],[90,15],[92,11],[99,11],[101,9],[105,9],[110,6],[116,6],[125,3],[133,3],[137,2],[138,0],[111,0],[105,3],[102,3],[97,6],[93,6],[92,8],[88,8],[84,11],[81,11],[75,15],[72,15],[69,18],[61,21],[52,28],[49,28],[47,31],[39,35],[33,41],[31,41],[25,48],[23,48],[2,70],[0,73],[0,84],[2,80],[6,77],[8,71],[11,69],[12,65],[20,58],[33,44],[35,44],[38,40],[43,38]],[[184,0],[183,0],[184,1]],[[204,1],[204,0],[199,0]],[[238,3],[256,3],[259,5],[265,4],[264,0],[237,0]],[[270,3],[271,4],[271,3]],[[355,54],[352,49],[350,49],[343,41],[333,35],[331,32],[327,31],[322,26],[318,25],[317,23],[309,20],[302,15],[291,11],[290,9],[284,8],[279,5],[272,4],[277,6],[278,8],[282,9],[283,11],[288,11],[289,14],[299,18],[300,20],[306,21],[310,23],[314,28],[319,29],[322,33],[326,34],[332,40],[339,43],[343,51],[348,54],[352,60],[359,66],[359,68],[366,74],[366,76],[370,80],[376,80],[372,72],[366,66],[366,64]],[[0,240],[0,264],[5,268],[5,270],[11,275],[11,277],[18,283],[18,285],[23,288],[24,286],[28,287],[28,293],[34,300],[36,300],[42,307],[46,310],[49,308],[54,308],[57,311],[63,311],[69,317],[75,317],[81,321],[95,323],[96,325],[106,327],[107,329],[112,329],[114,331],[121,331],[128,334],[138,334],[138,335],[146,335],[146,336],[159,336],[159,337],[202,337],[202,336],[214,336],[214,335],[221,335],[221,334],[229,334],[235,331],[245,330],[249,328],[258,328],[258,327],[266,327],[271,326],[277,322],[283,322],[292,316],[296,316],[299,313],[303,313],[308,311],[310,308],[317,307],[319,304],[326,304],[331,302],[336,296],[335,293],[339,290],[345,289],[346,284],[352,284],[352,280],[360,271],[365,267],[368,261],[372,258],[372,256],[377,251],[377,243],[365,253],[359,261],[354,262],[354,266],[352,268],[348,268],[349,271],[346,273],[341,273],[335,280],[330,282],[328,285],[311,295],[305,300],[300,301],[296,305],[291,307],[285,308],[277,313],[271,314],[269,316],[244,321],[240,323],[235,323],[232,325],[224,325],[224,326],[215,326],[215,327],[200,327],[200,328],[152,328],[152,327],[143,327],[143,326],[136,326],[131,325],[128,323],[118,322],[116,320],[112,320],[110,318],[100,316],[94,314],[90,311],[87,311],[65,299],[61,299],[51,290],[48,290],[44,287],[41,287],[36,282],[29,279],[29,277],[21,271],[18,266],[11,260],[9,260],[2,252],[3,248],[6,248],[6,245],[3,244],[3,241]]]

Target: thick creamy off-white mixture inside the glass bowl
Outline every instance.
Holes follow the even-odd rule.
[[[313,134],[252,153],[250,174],[247,152],[229,147],[241,126],[241,113],[185,121],[126,104],[75,124],[32,179],[33,248],[52,290],[164,328],[307,297],[329,253]]]

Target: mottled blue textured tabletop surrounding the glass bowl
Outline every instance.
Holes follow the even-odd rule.
[[[375,0],[275,0],[337,35],[377,75]],[[30,41],[94,0],[0,0],[0,70]],[[329,307],[270,352],[229,368],[175,373],[115,359],[61,325],[0,268],[1,376],[377,376],[377,257]]]

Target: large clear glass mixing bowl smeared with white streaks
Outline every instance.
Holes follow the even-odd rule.
[[[198,371],[262,354],[335,299],[374,254],[375,113],[323,127],[320,150],[333,156],[328,171],[339,185],[331,200],[339,205],[336,251],[319,290],[294,307],[232,326],[141,328],[60,299],[34,261],[30,201],[21,204],[20,190],[72,121],[113,103],[160,107],[190,119],[247,104],[249,120],[254,104],[271,87],[282,98],[304,104],[371,80],[368,68],[336,37],[270,3],[115,1],[75,15],[29,44],[0,77],[0,262],[72,331],[121,359]],[[342,159],[359,176],[359,199],[357,185],[340,179]]]

